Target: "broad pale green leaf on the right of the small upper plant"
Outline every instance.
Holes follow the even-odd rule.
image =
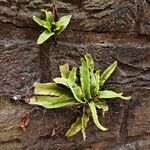
[[[68,26],[71,17],[71,15],[63,16],[58,20],[58,22],[56,22],[56,27],[60,27],[58,34],[64,31],[64,29]]]

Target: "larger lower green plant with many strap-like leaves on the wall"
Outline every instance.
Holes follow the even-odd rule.
[[[79,116],[75,123],[66,133],[67,137],[75,135],[80,130],[85,139],[85,128],[90,117],[95,125],[102,131],[106,131],[100,124],[97,109],[103,112],[109,110],[107,100],[120,98],[129,100],[131,97],[123,96],[123,93],[116,93],[111,90],[102,90],[102,86],[115,70],[117,62],[112,63],[103,73],[94,71],[94,61],[90,54],[81,58],[79,67],[80,79],[77,78],[77,68],[69,70],[69,65],[60,66],[61,77],[55,78],[55,83],[36,83],[34,96],[30,98],[30,104],[41,105],[45,108],[59,108],[64,106],[80,106],[83,108],[82,116]],[[66,88],[63,88],[63,85]]]

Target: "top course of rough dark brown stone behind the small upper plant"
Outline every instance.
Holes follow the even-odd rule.
[[[60,15],[73,12],[72,29],[94,32],[130,32],[149,35],[150,5],[146,0],[56,1]],[[0,20],[33,27],[33,15],[52,8],[51,1],[1,0]],[[140,29],[139,29],[140,28]]]

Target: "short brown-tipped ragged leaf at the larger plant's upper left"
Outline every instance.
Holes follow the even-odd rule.
[[[59,67],[60,73],[61,73],[61,77],[63,78],[68,78],[70,71],[69,71],[69,65],[68,63],[61,65]]]

